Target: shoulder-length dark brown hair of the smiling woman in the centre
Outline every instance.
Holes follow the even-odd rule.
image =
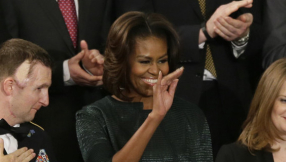
[[[130,100],[122,89],[130,92],[129,58],[134,51],[136,40],[148,37],[167,40],[169,72],[176,69],[179,57],[179,37],[172,24],[160,14],[127,12],[111,26],[105,49],[103,83],[116,97]]]

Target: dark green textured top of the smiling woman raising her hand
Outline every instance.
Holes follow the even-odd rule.
[[[77,112],[76,129],[85,161],[112,161],[152,110],[141,102],[107,96]],[[141,161],[212,161],[209,128],[202,111],[179,98],[149,141]]]

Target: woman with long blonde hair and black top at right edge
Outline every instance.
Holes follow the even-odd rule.
[[[286,59],[263,74],[238,141],[223,146],[216,162],[285,162]]]

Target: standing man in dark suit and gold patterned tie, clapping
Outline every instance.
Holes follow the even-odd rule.
[[[185,68],[176,95],[204,111],[214,156],[222,144],[235,141],[252,94],[248,60],[261,45],[259,30],[250,27],[256,27],[253,15],[242,11],[252,0],[111,1],[111,18],[140,10],[161,13],[173,23],[181,38],[179,66]]]

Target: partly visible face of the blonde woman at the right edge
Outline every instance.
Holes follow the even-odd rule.
[[[281,133],[286,135],[286,81],[284,82],[278,98],[274,102],[274,107],[271,113],[271,119],[274,126]]]

